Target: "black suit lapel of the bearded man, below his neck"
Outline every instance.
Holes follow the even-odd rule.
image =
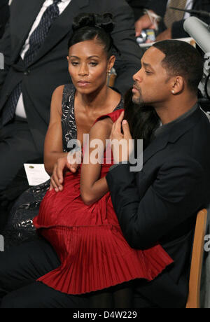
[[[202,111],[200,107],[196,109],[193,114],[184,118],[179,123],[175,123],[171,127],[169,127],[164,132],[160,133],[158,137],[156,137],[152,143],[146,148],[143,153],[144,164],[153,157],[158,151],[163,150],[167,144],[176,142],[179,137],[185,134],[191,127],[195,126],[195,124],[202,117]]]

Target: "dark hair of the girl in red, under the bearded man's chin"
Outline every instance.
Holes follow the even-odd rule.
[[[125,116],[132,138],[144,140],[144,149],[153,139],[154,131],[160,125],[160,118],[153,106],[137,105],[132,102],[132,89],[125,94]]]

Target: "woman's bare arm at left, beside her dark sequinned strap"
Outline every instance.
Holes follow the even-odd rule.
[[[45,170],[51,176],[54,165],[59,158],[66,155],[62,146],[62,95],[64,85],[59,86],[52,94],[50,124],[45,137],[44,163]]]

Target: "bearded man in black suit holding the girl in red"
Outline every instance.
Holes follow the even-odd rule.
[[[120,156],[125,164],[114,165],[106,179],[130,246],[158,243],[174,260],[151,283],[135,283],[135,307],[181,308],[188,297],[196,215],[210,195],[210,124],[197,104],[202,58],[188,43],[161,41],[141,63],[133,102],[139,109],[142,103],[153,106],[162,126],[144,150],[140,172],[131,172],[128,156]],[[122,120],[113,125],[111,139],[132,139],[126,121],[121,133]]]

